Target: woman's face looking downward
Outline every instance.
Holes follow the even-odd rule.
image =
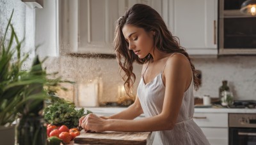
[[[145,58],[148,53],[153,52],[154,48],[154,32],[146,32],[140,27],[133,25],[124,25],[124,38],[129,44],[129,50],[132,50],[140,59]]]

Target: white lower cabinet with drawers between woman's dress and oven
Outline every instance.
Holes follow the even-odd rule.
[[[193,120],[211,145],[228,144],[228,113],[195,113]]]

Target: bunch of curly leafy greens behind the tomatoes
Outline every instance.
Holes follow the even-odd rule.
[[[79,118],[92,113],[87,110],[84,114],[84,108],[75,109],[74,103],[58,97],[52,97],[52,100],[53,103],[44,109],[44,119],[52,125],[66,125],[68,128],[78,127]]]

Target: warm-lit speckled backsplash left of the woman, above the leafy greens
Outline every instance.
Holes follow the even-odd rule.
[[[99,102],[118,101],[118,86],[122,85],[123,81],[118,72],[118,62],[115,59],[49,57],[44,66],[47,67],[47,72],[58,71],[61,78],[76,81],[76,85],[70,86],[71,89],[74,87],[74,96],[68,96],[68,100],[76,102],[79,94],[78,85],[91,83],[95,79],[102,79],[103,89]],[[134,69],[136,76],[138,76],[134,86],[138,86],[141,66],[135,65]],[[137,88],[134,87],[133,91],[136,93]],[[61,94],[63,95],[64,93],[62,92]]]

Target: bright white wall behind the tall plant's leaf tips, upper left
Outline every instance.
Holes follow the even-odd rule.
[[[35,56],[35,10],[26,6],[20,0],[0,0],[0,37],[3,36],[8,19],[14,10],[12,24],[19,40],[26,38],[22,45],[22,54],[29,53],[29,59],[24,63],[23,69],[31,66]],[[7,38],[10,38],[10,32]]]

